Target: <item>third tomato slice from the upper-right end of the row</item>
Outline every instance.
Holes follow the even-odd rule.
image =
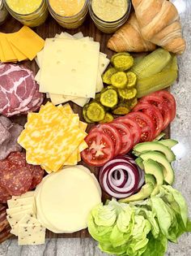
[[[145,113],[151,117],[155,127],[154,138],[157,137],[163,129],[163,116],[161,115],[159,109],[150,103],[138,102],[138,105],[134,107],[133,111],[141,111],[142,113]]]

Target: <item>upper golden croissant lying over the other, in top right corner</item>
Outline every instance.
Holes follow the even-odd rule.
[[[167,0],[132,0],[142,37],[175,54],[185,51],[180,18]]]

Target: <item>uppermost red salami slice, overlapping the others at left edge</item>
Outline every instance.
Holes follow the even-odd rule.
[[[10,169],[0,171],[0,183],[11,196],[19,196],[30,189],[32,173],[28,167],[12,164]]]

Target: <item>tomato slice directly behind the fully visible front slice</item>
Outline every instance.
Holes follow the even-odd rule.
[[[122,141],[117,128],[113,127],[111,124],[98,124],[96,127],[91,129],[91,132],[95,131],[104,132],[111,138],[114,145],[114,156],[118,155],[121,150]]]

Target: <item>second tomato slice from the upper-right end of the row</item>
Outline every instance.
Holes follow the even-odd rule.
[[[167,102],[163,102],[163,98],[159,96],[159,92],[151,93],[145,97],[143,97],[139,102],[142,103],[150,103],[151,105],[157,106],[160,114],[163,116],[163,129],[168,127],[170,124],[172,115],[171,110],[167,104]]]

